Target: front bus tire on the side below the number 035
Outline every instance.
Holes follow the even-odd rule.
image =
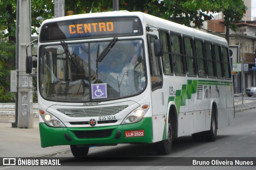
[[[156,143],[156,152],[159,155],[168,155],[168,154],[170,154],[171,150],[172,150],[172,140],[173,140],[173,132],[172,132],[171,119],[170,119],[170,116],[169,116],[169,118],[168,118],[167,139]]]

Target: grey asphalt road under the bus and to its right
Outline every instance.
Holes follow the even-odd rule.
[[[72,157],[71,153],[62,157]],[[219,128],[215,142],[193,142],[191,136],[176,139],[172,153],[160,157],[255,157],[256,109],[238,112],[230,126]],[[60,157],[60,155],[56,156]],[[159,157],[152,145],[118,144],[90,148],[88,157]],[[254,168],[255,170],[256,168]]]

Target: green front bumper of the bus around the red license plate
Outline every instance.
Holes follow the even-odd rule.
[[[104,138],[78,138],[74,131],[95,131],[97,130],[112,130],[112,133],[108,137]],[[152,118],[143,118],[140,122],[125,125],[116,126],[104,126],[104,127],[90,127],[90,128],[54,128],[49,127],[44,123],[39,124],[41,146],[43,148],[56,145],[110,145],[120,143],[152,143]],[[121,136],[115,139],[116,132],[121,131]],[[124,132],[126,130],[144,130],[145,136],[143,137],[130,137],[126,138]],[[71,137],[71,141],[66,140],[64,137],[67,133]]]

